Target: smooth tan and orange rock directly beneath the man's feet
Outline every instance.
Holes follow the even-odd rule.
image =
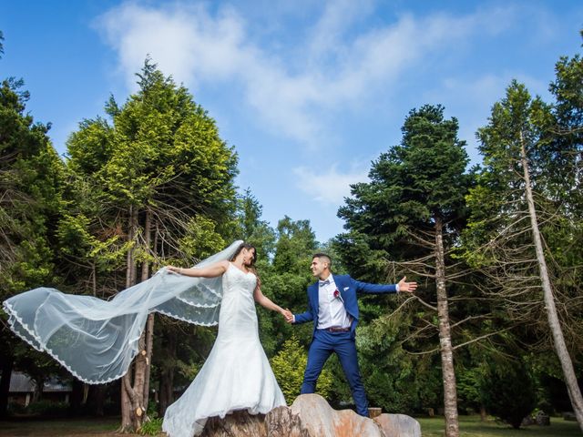
[[[352,410],[332,410],[318,394],[302,394],[292,403],[292,414],[300,416],[311,437],[385,437],[379,426],[368,417]]]

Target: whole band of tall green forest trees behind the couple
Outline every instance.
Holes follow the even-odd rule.
[[[286,216],[273,229],[261,219],[252,188],[235,186],[235,147],[155,60],[137,72],[136,93],[123,103],[111,97],[102,115],[80,120],[65,159],[46,135],[50,126],[26,111],[23,81],[5,78],[0,299],[41,285],[108,299],[164,265],[189,266],[245,239],[257,248],[263,292],[299,311],[312,253],[326,251],[336,272],[371,282],[406,274],[421,284],[414,297],[360,300],[357,344],[374,405],[443,410],[448,435],[458,413],[490,412],[513,424],[535,409],[580,414],[565,382],[578,385],[583,358],[583,60],[561,57],[555,71],[553,101],[508,84],[476,133],[482,163],[474,168],[455,117],[439,105],[413,108],[401,142],[373,161],[370,182],[354,184],[339,209],[345,232],[325,242],[308,220]],[[261,342],[292,401],[312,327],[258,312]],[[57,377],[73,383],[72,402],[87,412],[122,411],[123,426],[162,415],[196,375],[216,329],[157,315],[145,334],[125,381],[87,387],[15,339],[4,317],[0,412],[8,411],[6,375],[18,370],[36,381],[38,400],[43,382]],[[335,359],[319,390],[335,406],[350,404]]]

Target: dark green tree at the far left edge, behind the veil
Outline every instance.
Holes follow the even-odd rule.
[[[0,300],[41,285],[57,285],[56,222],[61,208],[64,166],[46,133],[50,125],[26,113],[29,94],[22,80],[5,79],[0,86]],[[0,415],[5,414],[13,365],[32,373],[56,371],[45,357],[6,329],[0,355]],[[44,375],[45,377],[46,375]],[[38,381],[41,382],[41,381]],[[39,384],[42,390],[42,385]]]

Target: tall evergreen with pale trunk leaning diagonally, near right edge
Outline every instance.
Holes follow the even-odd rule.
[[[487,272],[488,285],[505,301],[510,317],[539,332],[550,330],[583,429],[583,398],[552,280],[553,269],[560,266],[549,266],[553,248],[543,233],[545,228],[567,233],[572,229],[565,228],[570,220],[561,218],[566,211],[557,204],[556,188],[564,182],[549,176],[555,156],[548,153],[547,128],[552,125],[551,108],[539,97],[531,98],[526,86],[513,81],[507,87],[506,97],[492,108],[488,125],[478,131],[484,168],[468,197],[472,215],[465,244],[467,258]]]

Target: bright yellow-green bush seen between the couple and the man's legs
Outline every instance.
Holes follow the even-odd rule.
[[[308,353],[294,336],[290,340],[286,340],[281,351],[271,359],[271,368],[288,405],[291,405],[300,394],[303,371],[307,363]],[[318,378],[316,392],[326,398],[330,395],[331,388],[332,374],[324,369]]]

